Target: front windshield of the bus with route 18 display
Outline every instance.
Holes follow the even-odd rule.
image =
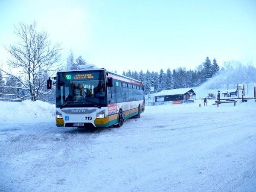
[[[104,70],[57,73],[56,107],[106,107]]]

